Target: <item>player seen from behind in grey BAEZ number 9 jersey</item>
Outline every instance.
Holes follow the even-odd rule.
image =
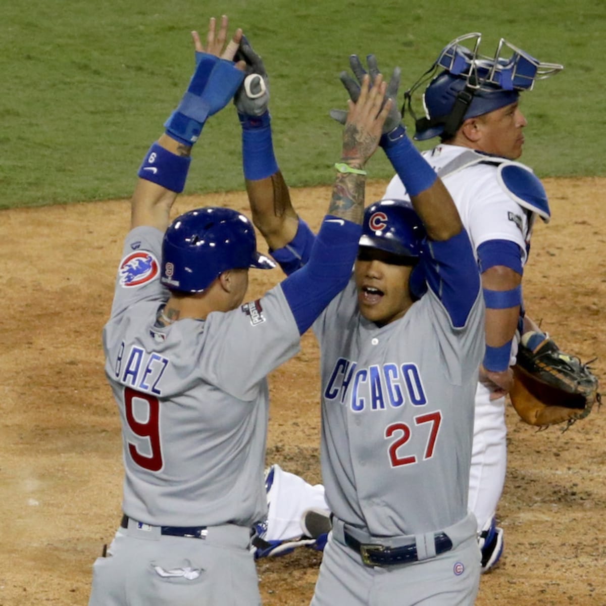
[[[105,373],[118,405],[124,516],[93,566],[90,605],[260,604],[249,550],[267,516],[266,375],[348,282],[361,235],[359,175],[339,173],[310,260],[242,305],[248,268],[273,267],[241,213],[199,208],[169,225],[191,146],[242,84],[241,30],[227,18],[207,42],[165,133],[145,155],[131,231],[103,332]],[[343,139],[358,166],[375,151],[390,103],[381,78],[362,87]]]

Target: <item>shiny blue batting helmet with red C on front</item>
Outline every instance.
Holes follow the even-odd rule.
[[[364,248],[378,248],[392,255],[393,264],[411,265],[410,294],[420,299],[427,290],[421,260],[425,227],[410,202],[381,200],[364,211],[359,255]]]

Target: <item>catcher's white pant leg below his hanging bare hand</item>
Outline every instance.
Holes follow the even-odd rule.
[[[468,493],[468,508],[478,520],[478,531],[494,516],[506,468],[505,398],[490,401],[490,390],[478,383]]]

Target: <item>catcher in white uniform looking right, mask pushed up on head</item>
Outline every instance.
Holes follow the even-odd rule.
[[[425,116],[415,116],[415,139],[441,139],[424,156],[450,191],[482,272],[486,350],[476,390],[469,507],[478,520],[485,572],[499,561],[504,545],[495,513],[507,467],[505,395],[513,384],[510,364],[515,363],[519,335],[538,330],[524,314],[524,265],[534,223],[550,219],[541,181],[516,162],[527,124],[520,94],[531,90],[536,80],[559,72],[562,65],[538,61],[505,39],[494,56],[481,55],[480,43],[479,33],[454,39],[406,96],[415,116],[411,101],[424,87]],[[395,175],[385,198],[407,197]],[[545,336],[538,335],[541,342]]]

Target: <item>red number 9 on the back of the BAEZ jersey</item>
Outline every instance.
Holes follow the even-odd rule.
[[[137,421],[133,412],[133,401],[147,402],[147,421]],[[139,404],[141,406],[141,404]],[[128,441],[128,452],[137,465],[149,471],[160,471],[162,448],[160,445],[160,402],[155,396],[127,387],[124,390],[124,409],[128,427],[139,438],[147,440],[151,454],[141,454],[137,445]]]

